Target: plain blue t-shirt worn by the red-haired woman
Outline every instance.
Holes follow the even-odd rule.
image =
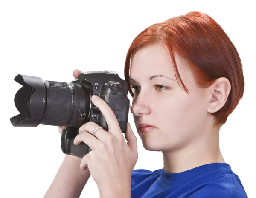
[[[131,198],[248,198],[227,163],[205,164],[181,173],[133,170]]]

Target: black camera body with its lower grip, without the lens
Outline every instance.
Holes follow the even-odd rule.
[[[122,133],[126,132],[130,100],[127,97],[128,86],[125,80],[122,80],[117,73],[105,70],[103,72],[82,72],[78,79],[72,82],[88,90],[90,98],[92,95],[102,98],[115,113]],[[92,102],[90,102],[90,107],[85,106],[84,109],[79,109],[77,121],[78,126],[62,130],[61,149],[67,155],[83,158],[91,148],[83,142],[79,145],[73,144],[74,138],[79,134],[81,124],[92,121],[106,131],[108,131],[108,124]]]

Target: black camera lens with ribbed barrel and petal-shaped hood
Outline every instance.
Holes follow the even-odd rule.
[[[15,95],[15,106],[20,114],[10,119],[13,126],[76,127],[87,120],[90,94],[79,83],[43,81],[20,74],[15,81],[23,87]],[[84,116],[79,117],[81,111]]]

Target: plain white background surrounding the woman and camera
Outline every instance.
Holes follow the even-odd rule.
[[[57,127],[12,126],[9,119],[18,114],[14,96],[21,87],[14,81],[17,74],[71,82],[77,68],[117,71],[124,79],[125,56],[134,38],[154,23],[189,11],[213,17],[239,51],[244,97],[221,129],[220,147],[247,195],[256,197],[256,17],[251,2],[2,0],[0,197],[43,197],[64,158]],[[131,112],[128,122],[138,139],[139,159],[134,169],[162,168],[162,153],[143,148]],[[93,178],[81,197],[99,197]]]

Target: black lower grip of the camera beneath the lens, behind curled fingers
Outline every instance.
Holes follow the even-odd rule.
[[[91,148],[84,142],[81,142],[79,145],[74,144],[74,139],[78,134],[78,127],[67,127],[63,129],[61,134],[61,150],[66,155],[83,158],[91,151]]]

